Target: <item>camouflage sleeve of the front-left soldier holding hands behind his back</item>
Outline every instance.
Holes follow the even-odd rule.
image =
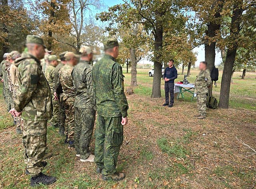
[[[21,76],[21,86],[17,90],[16,97],[14,98],[16,111],[22,111],[25,105],[31,100],[32,93],[36,90],[40,77],[38,64],[34,60],[30,60],[28,64],[19,68],[19,74]]]

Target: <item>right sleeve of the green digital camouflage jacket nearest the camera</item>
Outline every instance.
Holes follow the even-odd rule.
[[[126,117],[128,115],[127,110],[129,106],[124,94],[124,75],[122,67],[118,64],[114,64],[112,68],[112,86],[116,104],[119,107],[122,117]]]

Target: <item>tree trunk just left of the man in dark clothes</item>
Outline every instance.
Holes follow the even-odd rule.
[[[158,14],[158,18],[161,15]],[[163,46],[163,26],[160,20],[156,19],[156,27],[154,34],[154,78],[152,86],[152,98],[161,97],[161,78],[162,78],[162,64],[160,58],[162,56],[162,46]]]

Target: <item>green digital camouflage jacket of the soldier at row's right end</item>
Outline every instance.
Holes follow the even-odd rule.
[[[122,67],[112,56],[105,55],[93,66],[92,82],[98,114],[126,117],[128,102],[124,94]]]

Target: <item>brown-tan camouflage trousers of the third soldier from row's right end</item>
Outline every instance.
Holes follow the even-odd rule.
[[[65,130],[68,135],[68,141],[74,140],[74,128],[75,128],[75,109],[74,109],[74,97],[68,97],[65,100]]]

